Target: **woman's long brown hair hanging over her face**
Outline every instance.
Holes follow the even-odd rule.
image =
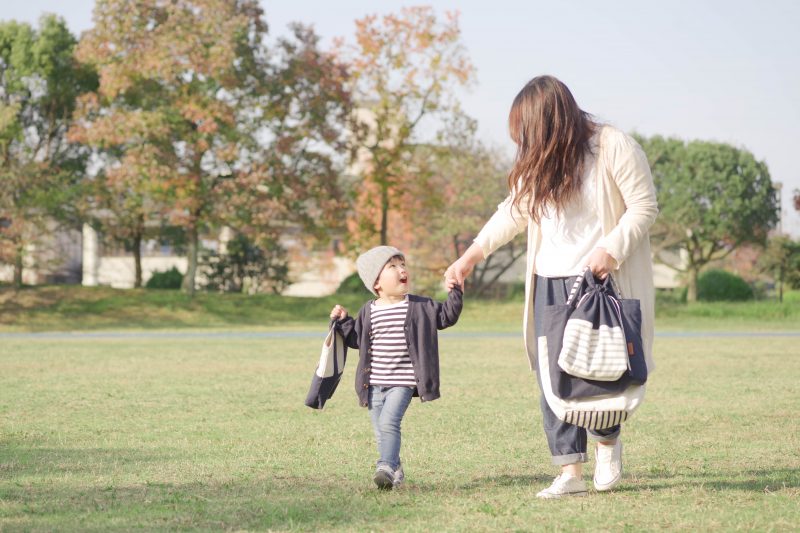
[[[517,144],[508,188],[514,206],[538,223],[548,207],[559,212],[580,190],[589,140],[597,124],[564,83],[537,76],[514,98],[508,129]]]

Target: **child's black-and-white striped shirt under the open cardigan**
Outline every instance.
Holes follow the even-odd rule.
[[[408,297],[391,305],[370,307],[370,385],[414,387],[414,367],[408,356],[405,322]]]

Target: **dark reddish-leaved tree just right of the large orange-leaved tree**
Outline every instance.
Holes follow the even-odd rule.
[[[287,229],[300,229],[295,238],[312,245],[345,226],[339,179],[351,111],[347,68],[320,50],[310,28],[293,24],[291,30],[261,67],[252,112],[239,119],[252,132],[249,144],[240,171],[224,185],[227,223],[278,262]]]

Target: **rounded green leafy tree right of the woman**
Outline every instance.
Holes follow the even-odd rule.
[[[661,211],[651,230],[655,256],[687,275],[687,300],[696,301],[705,265],[744,243],[764,244],[775,226],[778,200],[767,165],[723,143],[637,140],[647,153]],[[666,250],[684,252],[685,260],[669,262]]]

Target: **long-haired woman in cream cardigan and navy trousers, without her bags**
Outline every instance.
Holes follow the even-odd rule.
[[[588,266],[601,279],[613,273],[624,297],[640,300],[645,360],[652,371],[654,288],[648,230],[658,205],[644,152],[628,135],[595,122],[552,76],[536,77],[523,87],[511,106],[509,130],[517,145],[508,176],[511,192],[445,276],[461,284],[477,263],[527,228],[523,332],[531,369],[536,368],[541,327],[536,311],[563,304],[569,285]],[[559,420],[544,396],[540,406],[553,464],[561,467],[561,474],[537,496],[585,496],[587,431]],[[589,431],[597,441],[598,491],[612,489],[621,479],[620,429]]]

